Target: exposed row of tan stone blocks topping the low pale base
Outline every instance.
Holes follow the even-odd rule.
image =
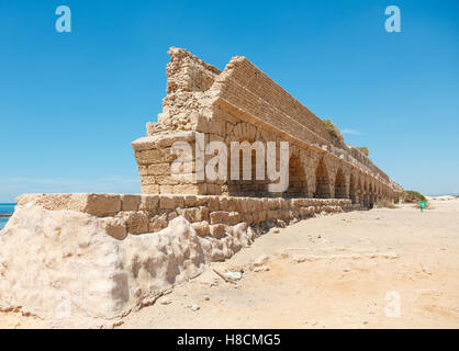
[[[346,199],[239,197],[176,194],[24,194],[19,205],[48,211],[75,211],[101,217],[108,235],[123,240],[127,235],[157,233],[178,216],[195,225],[200,235],[224,237],[239,223],[257,226],[267,220],[302,219],[320,213],[355,210]]]

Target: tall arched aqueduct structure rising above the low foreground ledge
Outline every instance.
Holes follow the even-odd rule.
[[[143,194],[350,199],[362,206],[393,199],[384,172],[359,149],[334,138],[321,118],[247,58],[234,57],[220,71],[184,49],[171,48],[169,55],[163,112],[157,123],[147,124],[147,136],[133,143]],[[251,180],[184,181],[171,177],[177,156],[170,147],[176,141],[192,145],[189,162],[193,172],[214,157],[203,150],[197,154],[198,133],[204,136],[203,145],[219,140],[228,149],[232,141],[288,141],[288,189],[270,193],[269,180],[256,179],[255,149]]]

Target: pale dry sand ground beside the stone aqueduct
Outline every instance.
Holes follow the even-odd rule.
[[[423,213],[402,205],[271,229],[119,328],[458,328],[459,200],[430,205]],[[262,254],[269,271],[255,272]],[[244,273],[231,284],[212,269]],[[0,328],[11,327],[47,325],[0,314]]]

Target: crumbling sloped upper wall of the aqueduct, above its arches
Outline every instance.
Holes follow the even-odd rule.
[[[246,57],[233,57],[221,71],[183,48],[171,47],[168,54],[167,97],[158,123],[147,124],[148,136],[195,131],[223,137],[226,128],[243,121],[289,141],[328,150],[389,180],[368,157],[334,140],[320,117]]]

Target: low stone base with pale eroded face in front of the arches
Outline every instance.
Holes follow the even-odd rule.
[[[150,304],[265,229],[349,200],[25,194],[0,230],[0,310],[98,326]]]

